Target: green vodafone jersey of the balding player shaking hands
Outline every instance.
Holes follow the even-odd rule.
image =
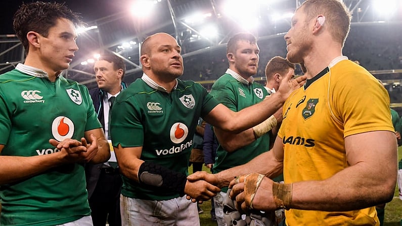
[[[112,143],[115,147],[142,146],[142,160],[188,174],[198,118],[207,115],[218,103],[200,84],[176,80],[173,91],[166,93],[144,74],[117,96],[112,109]],[[126,197],[146,200],[178,197],[173,191],[147,188],[125,176],[122,178],[121,194]]]

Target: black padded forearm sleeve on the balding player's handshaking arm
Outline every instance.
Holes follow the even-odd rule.
[[[140,184],[158,187],[163,190],[175,191],[184,196],[184,188],[187,183],[187,176],[175,172],[153,162],[144,162],[138,170]]]

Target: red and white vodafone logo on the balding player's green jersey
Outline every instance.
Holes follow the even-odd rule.
[[[182,143],[186,140],[188,134],[189,129],[184,123],[176,122],[170,127],[170,140],[174,144]],[[193,140],[186,142],[185,144],[180,144],[179,146],[172,146],[170,149],[156,149],[155,152],[157,155],[180,153],[183,150],[190,148],[192,145]]]

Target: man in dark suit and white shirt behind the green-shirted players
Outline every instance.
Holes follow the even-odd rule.
[[[116,55],[102,55],[94,64],[98,88],[91,89],[98,119],[110,143],[109,111],[113,101],[126,88],[122,78],[125,74],[124,61]],[[112,150],[111,150],[112,151]],[[122,180],[114,152],[109,162],[85,166],[86,189],[92,210],[94,226],[120,226],[120,190]]]

